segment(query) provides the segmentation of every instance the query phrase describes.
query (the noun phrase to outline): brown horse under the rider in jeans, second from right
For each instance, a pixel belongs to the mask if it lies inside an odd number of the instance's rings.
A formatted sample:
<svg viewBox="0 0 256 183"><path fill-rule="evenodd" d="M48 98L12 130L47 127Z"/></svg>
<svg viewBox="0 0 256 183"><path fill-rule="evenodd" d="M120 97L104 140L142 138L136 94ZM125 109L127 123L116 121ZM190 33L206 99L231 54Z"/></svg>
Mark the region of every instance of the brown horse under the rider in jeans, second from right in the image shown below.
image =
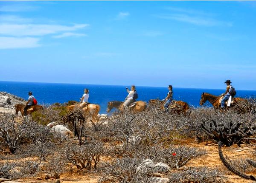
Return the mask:
<svg viewBox="0 0 256 183"><path fill-rule="evenodd" d="M148 104L150 106L154 107L160 107L161 109L164 109L164 100L159 99L150 99L148 101ZM175 101L173 100L172 103L169 105L169 109L171 109L172 112L180 114L183 113L183 115L187 114L187 111L189 110L189 104L184 101Z"/></svg>

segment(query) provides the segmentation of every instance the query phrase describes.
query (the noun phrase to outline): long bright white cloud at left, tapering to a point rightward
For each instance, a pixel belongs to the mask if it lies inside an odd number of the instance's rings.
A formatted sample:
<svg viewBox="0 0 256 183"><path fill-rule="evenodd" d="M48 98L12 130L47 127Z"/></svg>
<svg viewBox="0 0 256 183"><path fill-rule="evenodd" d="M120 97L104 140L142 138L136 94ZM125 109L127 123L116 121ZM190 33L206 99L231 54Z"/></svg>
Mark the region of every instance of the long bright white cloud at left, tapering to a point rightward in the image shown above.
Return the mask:
<svg viewBox="0 0 256 183"><path fill-rule="evenodd" d="M49 24L0 24L0 34L8 36L43 36L63 31L76 31L87 27L87 24L49 25Z"/></svg>

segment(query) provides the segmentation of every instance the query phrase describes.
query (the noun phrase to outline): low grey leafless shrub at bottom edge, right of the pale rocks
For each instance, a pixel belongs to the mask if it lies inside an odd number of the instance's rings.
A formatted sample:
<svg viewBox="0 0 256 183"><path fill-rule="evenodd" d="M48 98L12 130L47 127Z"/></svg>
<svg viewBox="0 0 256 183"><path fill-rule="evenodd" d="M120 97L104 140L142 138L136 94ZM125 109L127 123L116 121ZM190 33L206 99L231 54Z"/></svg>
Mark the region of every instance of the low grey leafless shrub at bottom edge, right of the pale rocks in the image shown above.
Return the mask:
<svg viewBox="0 0 256 183"><path fill-rule="evenodd" d="M172 173L170 183L224 183L226 178L218 169L207 167L189 168L184 172Z"/></svg>

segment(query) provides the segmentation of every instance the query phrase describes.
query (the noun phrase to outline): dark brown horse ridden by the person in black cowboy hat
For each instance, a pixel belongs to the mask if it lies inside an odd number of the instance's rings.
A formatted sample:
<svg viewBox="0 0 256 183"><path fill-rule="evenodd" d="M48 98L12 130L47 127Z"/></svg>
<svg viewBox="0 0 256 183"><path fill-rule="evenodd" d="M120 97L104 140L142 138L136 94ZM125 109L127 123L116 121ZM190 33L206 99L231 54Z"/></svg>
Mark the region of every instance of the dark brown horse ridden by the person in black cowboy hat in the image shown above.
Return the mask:
<svg viewBox="0 0 256 183"><path fill-rule="evenodd" d="M199 104L203 105L208 100L215 109L219 109L221 107L220 99L221 96L215 96L209 93L202 93ZM233 98L232 100L233 102L231 103L230 107L234 107L234 105L237 104L238 101L244 101L244 99L241 98ZM227 102L225 104L225 108L227 108Z"/></svg>

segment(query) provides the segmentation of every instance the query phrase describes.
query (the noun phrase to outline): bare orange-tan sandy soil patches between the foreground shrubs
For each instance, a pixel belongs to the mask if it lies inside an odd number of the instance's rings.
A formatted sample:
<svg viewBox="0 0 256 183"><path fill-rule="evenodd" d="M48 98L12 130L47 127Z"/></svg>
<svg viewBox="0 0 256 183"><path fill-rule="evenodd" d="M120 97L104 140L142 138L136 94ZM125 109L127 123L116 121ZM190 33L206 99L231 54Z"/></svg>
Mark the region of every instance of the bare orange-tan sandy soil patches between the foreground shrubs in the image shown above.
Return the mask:
<svg viewBox="0 0 256 183"><path fill-rule="evenodd" d="M193 141L193 139L190 139L188 141ZM205 143L197 144L195 141L191 143L185 143L189 146L195 146L199 148L203 148L207 150L207 155L200 156L198 158L194 158L190 160L184 168L186 167L198 167L198 166L207 166L209 168L218 168L219 170L223 171L225 175L227 176L227 183L253 183L252 180L245 180L240 178L237 175L234 175L232 172L227 170L227 168L222 164L219 155L218 155L218 145L205 145ZM185 145L184 144L184 145ZM233 156L239 155L239 158L246 157L244 155L244 151L241 151L244 149L244 146L238 147L236 145L232 147L224 147L222 148L224 156L227 155L228 157L232 158ZM103 159L107 160L107 159ZM96 174L90 174L90 173L84 173L85 175L79 175L76 171L73 171L73 174L66 173L61 176L61 183L97 183L97 179L100 177ZM250 175L256 176L256 168L253 169L253 172L250 172ZM41 176L43 178L44 176ZM55 183L56 180L38 180L40 177L32 177L32 178L26 178L26 179L20 179L17 181L23 182L23 183Z"/></svg>

